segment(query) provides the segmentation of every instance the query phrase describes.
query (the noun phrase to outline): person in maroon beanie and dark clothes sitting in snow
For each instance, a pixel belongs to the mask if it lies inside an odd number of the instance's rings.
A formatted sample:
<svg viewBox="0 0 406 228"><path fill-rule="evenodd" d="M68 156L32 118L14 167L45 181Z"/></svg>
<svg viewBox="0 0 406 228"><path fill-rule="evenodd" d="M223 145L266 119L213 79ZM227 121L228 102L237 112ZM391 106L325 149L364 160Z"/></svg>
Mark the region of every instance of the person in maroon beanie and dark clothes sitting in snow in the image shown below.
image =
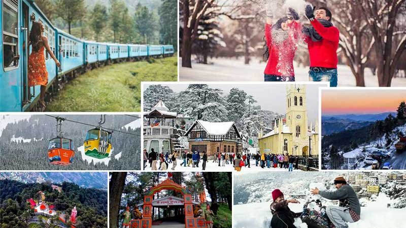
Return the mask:
<svg viewBox="0 0 406 228"><path fill-rule="evenodd" d="M272 228L296 228L293 224L295 218L299 217L301 213L295 213L288 207L289 203L300 203L296 199L285 200L283 193L279 189L272 191L272 199L274 202L270 204L270 212L272 213L272 220L270 226Z"/></svg>

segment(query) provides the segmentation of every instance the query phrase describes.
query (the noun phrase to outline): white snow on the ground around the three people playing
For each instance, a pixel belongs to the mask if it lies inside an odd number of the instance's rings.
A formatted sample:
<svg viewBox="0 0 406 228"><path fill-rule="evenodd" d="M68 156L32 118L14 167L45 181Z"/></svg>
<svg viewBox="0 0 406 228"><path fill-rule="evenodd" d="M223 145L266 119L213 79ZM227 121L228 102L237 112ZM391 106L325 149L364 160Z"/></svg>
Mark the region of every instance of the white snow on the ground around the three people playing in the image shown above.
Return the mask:
<svg viewBox="0 0 406 228"><path fill-rule="evenodd" d="M289 204L289 208L294 212L301 212L303 200L299 200L300 204ZM361 207L361 219L354 223L349 223L349 228L370 228L370 227L386 227L399 228L404 227L404 215L406 209L386 208L386 205L391 202L390 199L381 193L377 201L367 201L366 207ZM250 203L233 206L233 228L269 228L272 214L270 213L269 205L272 202ZM333 204L331 204L333 205ZM298 228L307 228L307 224L302 223L299 218L296 218L295 225Z"/></svg>

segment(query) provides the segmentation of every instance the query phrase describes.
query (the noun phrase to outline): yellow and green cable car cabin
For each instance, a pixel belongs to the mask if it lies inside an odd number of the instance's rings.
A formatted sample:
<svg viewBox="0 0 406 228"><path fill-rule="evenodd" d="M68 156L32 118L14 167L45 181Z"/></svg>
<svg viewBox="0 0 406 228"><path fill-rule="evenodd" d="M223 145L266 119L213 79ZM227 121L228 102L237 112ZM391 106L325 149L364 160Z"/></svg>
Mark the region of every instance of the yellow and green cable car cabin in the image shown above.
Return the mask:
<svg viewBox="0 0 406 228"><path fill-rule="evenodd" d="M109 157L112 148L111 135L111 132L99 128L89 130L84 142L85 155L96 159Z"/></svg>

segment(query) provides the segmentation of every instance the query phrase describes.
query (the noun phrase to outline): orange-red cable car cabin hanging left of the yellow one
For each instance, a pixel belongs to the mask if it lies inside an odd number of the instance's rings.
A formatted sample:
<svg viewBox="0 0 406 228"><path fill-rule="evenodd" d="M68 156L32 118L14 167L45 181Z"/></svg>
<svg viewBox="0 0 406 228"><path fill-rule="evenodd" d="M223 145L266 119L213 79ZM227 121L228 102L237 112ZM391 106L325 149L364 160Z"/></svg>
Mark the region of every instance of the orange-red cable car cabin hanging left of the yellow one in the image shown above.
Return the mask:
<svg viewBox="0 0 406 228"><path fill-rule="evenodd" d="M49 140L48 161L54 165L67 166L72 164L75 149L71 139L53 138Z"/></svg>

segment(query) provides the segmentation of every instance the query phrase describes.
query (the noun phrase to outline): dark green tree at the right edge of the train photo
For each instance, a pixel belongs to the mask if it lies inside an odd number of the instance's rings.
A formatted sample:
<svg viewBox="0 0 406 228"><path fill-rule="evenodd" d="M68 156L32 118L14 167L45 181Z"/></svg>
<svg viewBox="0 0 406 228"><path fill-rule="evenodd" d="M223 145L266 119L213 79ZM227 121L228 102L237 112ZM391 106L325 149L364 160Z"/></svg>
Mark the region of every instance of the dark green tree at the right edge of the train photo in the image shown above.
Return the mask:
<svg viewBox="0 0 406 228"><path fill-rule="evenodd" d="M159 7L159 42L174 45L177 50L178 39L178 3L173 0L162 0Z"/></svg>

